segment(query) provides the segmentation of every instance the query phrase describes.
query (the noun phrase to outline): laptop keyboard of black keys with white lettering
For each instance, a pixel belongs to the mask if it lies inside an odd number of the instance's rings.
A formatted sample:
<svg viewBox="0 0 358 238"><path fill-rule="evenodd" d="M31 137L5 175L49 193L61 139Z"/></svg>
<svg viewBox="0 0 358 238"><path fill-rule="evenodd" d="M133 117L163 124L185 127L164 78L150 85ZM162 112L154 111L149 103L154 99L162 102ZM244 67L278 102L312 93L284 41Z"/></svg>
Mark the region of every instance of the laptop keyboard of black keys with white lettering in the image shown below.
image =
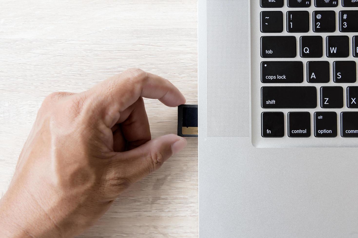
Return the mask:
<svg viewBox="0 0 358 238"><path fill-rule="evenodd" d="M284 4L288 11L280 10ZM339 5L347 10L335 11ZM261 107L269 109L261 113L261 136L358 137L352 60L358 57L358 0L260 0L260 6Z"/></svg>

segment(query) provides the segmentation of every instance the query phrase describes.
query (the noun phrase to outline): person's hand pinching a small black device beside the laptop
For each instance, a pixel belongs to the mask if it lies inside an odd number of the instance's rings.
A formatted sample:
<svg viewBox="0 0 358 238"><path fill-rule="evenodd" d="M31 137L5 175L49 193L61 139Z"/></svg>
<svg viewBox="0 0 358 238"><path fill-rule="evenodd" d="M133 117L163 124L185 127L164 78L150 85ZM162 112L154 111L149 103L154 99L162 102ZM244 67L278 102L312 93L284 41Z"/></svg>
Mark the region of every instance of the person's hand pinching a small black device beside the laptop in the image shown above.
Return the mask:
<svg viewBox="0 0 358 238"><path fill-rule="evenodd" d="M176 135L151 140L142 97L185 103L168 80L139 69L82 93L46 97L0 200L1 233L76 236L124 189L182 150L186 141Z"/></svg>

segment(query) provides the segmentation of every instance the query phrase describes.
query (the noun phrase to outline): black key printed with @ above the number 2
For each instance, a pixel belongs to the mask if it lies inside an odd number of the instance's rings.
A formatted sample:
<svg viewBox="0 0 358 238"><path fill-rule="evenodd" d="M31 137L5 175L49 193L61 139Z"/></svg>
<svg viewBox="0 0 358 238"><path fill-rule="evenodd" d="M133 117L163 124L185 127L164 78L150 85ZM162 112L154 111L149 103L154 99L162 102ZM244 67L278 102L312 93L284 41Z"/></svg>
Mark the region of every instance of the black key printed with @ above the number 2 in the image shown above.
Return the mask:
<svg viewBox="0 0 358 238"><path fill-rule="evenodd" d="M335 32L335 11L314 11L313 31Z"/></svg>

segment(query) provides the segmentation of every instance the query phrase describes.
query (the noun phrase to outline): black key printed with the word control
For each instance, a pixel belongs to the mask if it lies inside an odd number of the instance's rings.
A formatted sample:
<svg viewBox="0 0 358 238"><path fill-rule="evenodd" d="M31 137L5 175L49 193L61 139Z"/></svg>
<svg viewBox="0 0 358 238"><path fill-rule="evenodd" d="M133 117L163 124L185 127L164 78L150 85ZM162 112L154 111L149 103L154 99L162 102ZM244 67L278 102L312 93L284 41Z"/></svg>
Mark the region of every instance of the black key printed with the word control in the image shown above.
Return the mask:
<svg viewBox="0 0 358 238"><path fill-rule="evenodd" d="M311 114L309 112L289 112L287 117L289 137L311 136Z"/></svg>

